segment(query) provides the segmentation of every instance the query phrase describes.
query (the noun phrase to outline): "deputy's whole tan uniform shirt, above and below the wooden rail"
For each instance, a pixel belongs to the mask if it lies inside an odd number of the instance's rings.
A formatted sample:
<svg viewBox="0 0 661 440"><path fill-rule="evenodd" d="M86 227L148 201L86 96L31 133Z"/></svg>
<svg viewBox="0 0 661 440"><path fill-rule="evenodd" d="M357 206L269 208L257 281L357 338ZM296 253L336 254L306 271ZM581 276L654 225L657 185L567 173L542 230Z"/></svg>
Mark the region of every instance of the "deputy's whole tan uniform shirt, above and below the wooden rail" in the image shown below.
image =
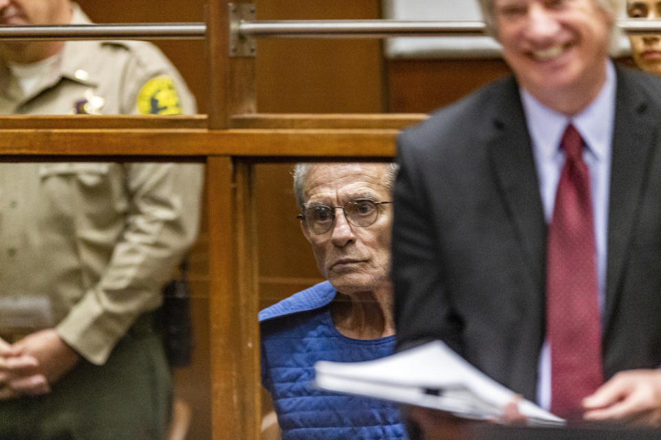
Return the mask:
<svg viewBox="0 0 661 440"><path fill-rule="evenodd" d="M75 5L73 23L89 23ZM70 41L58 57L28 96L0 65L0 114L195 112L149 43ZM103 364L160 304L196 238L201 188L199 164L0 164L0 333L56 327Z"/></svg>

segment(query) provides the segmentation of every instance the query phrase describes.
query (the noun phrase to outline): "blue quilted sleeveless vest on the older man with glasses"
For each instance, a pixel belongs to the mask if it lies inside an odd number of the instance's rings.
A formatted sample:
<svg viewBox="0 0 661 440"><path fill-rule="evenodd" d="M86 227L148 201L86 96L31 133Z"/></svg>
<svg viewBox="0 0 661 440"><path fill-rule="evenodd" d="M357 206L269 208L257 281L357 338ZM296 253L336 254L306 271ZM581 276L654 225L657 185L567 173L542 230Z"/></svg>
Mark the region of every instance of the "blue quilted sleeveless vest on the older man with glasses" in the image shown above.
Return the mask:
<svg viewBox="0 0 661 440"><path fill-rule="evenodd" d="M394 336L356 340L339 333L328 309L336 293L326 281L260 311L262 384L282 440L407 439L395 404L311 386L318 360L359 362L395 349Z"/></svg>

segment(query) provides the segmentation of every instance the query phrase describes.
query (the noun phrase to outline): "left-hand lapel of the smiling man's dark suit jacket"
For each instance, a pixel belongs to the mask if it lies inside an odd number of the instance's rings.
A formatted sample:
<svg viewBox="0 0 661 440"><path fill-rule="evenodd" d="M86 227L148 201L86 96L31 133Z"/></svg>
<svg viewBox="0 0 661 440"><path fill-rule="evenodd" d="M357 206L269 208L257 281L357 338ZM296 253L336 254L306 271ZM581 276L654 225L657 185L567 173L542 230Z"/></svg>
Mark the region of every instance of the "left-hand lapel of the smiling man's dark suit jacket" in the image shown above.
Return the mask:
<svg viewBox="0 0 661 440"><path fill-rule="evenodd" d="M532 293L541 300L546 225L530 137L514 79L502 88L502 96L492 102L504 103L487 113L490 114L487 122L492 124L487 144L496 185L518 235L533 285L538 287Z"/></svg>

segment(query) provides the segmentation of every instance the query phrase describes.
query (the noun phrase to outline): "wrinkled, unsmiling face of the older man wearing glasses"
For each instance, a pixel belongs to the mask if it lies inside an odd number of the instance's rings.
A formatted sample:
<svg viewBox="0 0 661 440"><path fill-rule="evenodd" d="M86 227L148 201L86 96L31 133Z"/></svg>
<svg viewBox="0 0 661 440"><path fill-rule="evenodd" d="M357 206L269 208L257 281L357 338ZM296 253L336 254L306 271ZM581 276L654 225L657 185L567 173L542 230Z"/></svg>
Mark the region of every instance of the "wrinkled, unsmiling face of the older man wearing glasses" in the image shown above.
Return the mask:
<svg viewBox="0 0 661 440"><path fill-rule="evenodd" d="M390 201L386 183L387 164L313 164L303 187L306 206L344 206L350 199ZM310 234L319 272L343 294L370 292L390 283L390 205L379 206L379 217L372 225L359 228L346 221L342 210L335 210L335 226L325 234Z"/></svg>

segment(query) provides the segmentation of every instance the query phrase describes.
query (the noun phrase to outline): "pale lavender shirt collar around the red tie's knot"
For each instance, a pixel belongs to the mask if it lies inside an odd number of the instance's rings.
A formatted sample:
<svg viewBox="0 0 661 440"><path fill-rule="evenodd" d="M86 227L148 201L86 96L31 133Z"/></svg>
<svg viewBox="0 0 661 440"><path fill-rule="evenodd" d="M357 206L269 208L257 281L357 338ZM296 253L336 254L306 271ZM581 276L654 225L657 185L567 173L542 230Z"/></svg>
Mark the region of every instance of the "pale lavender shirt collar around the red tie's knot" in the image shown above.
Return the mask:
<svg viewBox="0 0 661 440"><path fill-rule="evenodd" d="M597 97L571 118L549 109L525 89L520 91L533 148L543 157L551 158L558 153L560 138L571 122L590 153L596 159L605 158L611 148L615 116L616 72L610 60L607 61L606 81Z"/></svg>

